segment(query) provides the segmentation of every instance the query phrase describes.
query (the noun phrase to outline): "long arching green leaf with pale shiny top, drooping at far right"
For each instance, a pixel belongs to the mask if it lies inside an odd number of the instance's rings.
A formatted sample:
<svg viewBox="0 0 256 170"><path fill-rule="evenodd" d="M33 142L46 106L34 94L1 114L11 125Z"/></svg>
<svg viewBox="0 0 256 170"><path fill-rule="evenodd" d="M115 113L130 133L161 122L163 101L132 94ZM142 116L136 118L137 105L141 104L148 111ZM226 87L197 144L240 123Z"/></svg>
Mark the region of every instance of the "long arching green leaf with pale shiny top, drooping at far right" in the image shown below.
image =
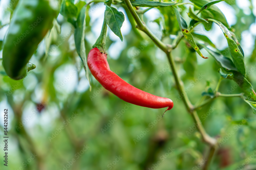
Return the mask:
<svg viewBox="0 0 256 170"><path fill-rule="evenodd" d="M246 74L246 70L245 70L245 64L244 64L244 55L243 55L243 51L241 51L241 46L235 36L235 34L231 31L229 31L227 29L227 27L225 27L221 22L215 20L215 19L208 19L210 21L213 21L215 23L217 23L223 34L225 35L227 41L228 41L228 46L229 46L229 51L231 54L231 57L233 59L233 62L237 68L237 70L242 73L243 76L245 76Z"/></svg>

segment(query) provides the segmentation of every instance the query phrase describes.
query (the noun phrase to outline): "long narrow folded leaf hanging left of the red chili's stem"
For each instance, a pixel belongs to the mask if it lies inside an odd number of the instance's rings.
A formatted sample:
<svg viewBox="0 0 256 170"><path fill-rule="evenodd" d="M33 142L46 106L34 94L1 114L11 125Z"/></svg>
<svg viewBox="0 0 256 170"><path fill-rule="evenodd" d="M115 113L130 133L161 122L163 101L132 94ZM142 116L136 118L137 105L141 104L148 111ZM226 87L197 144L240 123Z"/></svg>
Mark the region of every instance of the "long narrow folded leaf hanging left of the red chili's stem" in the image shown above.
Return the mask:
<svg viewBox="0 0 256 170"><path fill-rule="evenodd" d="M86 78L89 82L90 85L90 90L91 90L91 82L90 82L90 77L89 77L89 68L87 65L87 58L86 58L86 52L85 52L85 43L84 43L84 32L86 28L86 6L84 6L80 14L77 18L76 22L76 29L74 31L74 39L75 39L75 45L76 45L76 50L79 55L79 57L82 60L84 70L86 72Z"/></svg>

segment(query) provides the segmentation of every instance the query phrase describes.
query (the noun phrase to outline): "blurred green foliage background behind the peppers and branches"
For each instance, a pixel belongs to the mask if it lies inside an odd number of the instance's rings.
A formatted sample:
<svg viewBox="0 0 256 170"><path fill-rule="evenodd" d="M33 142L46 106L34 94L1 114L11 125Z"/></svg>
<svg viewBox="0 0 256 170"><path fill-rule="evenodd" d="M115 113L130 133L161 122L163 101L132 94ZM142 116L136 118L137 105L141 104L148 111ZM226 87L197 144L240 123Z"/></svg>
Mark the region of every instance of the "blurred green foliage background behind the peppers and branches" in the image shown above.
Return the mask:
<svg viewBox="0 0 256 170"><path fill-rule="evenodd" d="M242 32L255 22L253 6L250 6L251 13L245 15L234 1L225 2L235 10L237 22L231 29L240 41ZM69 15L57 20L30 60L36 64L36 69L19 81L10 79L3 72L0 75L1 141L4 109L8 109L9 136L8 167L3 166L3 142L0 142L1 169L201 169L209 147L202 142L182 96L175 88L165 54L146 34L135 28L136 24L124 5L116 4L114 7L120 7L119 11L126 11L125 17L130 20L132 29L123 35L125 48L117 59L111 56L114 51L107 50L111 70L139 89L172 99L174 107L162 118L164 108L151 109L126 103L103 89L89 73L90 91L81 59L74 48L72 25L86 2L69 3L72 8L60 10L64 16L68 10ZM100 5L103 3L92 3L86 8L86 55L98 36L92 31L90 16ZM186 14L189 9L184 6L179 9L189 25ZM12 14L12 9L8 10L6 13ZM163 18L152 22L163 29L154 34L171 44L170 34L180 35L178 22L171 7L159 8L159 11ZM145 16L143 19L147 24L151 22ZM109 49L114 41L113 38L107 40L106 49ZM244 58L247 79L254 89L255 51ZM214 58L205 50L201 52L209 59L201 58L185 38L172 52L184 82L184 93L193 104L209 98L201 94L209 87L215 89L220 78ZM64 83L68 79L72 82ZM228 79L222 80L219 91L223 94L242 93L237 84ZM239 169L243 164L248 165L243 166L244 169L255 169L256 119L248 103L239 97L219 97L198 110L198 114L206 132L219 139L210 169ZM85 146L88 149L82 153ZM79 158L77 152L82 153ZM30 157L31 154L37 156ZM30 158L33 158L31 162ZM69 167L72 159L75 161Z"/></svg>

